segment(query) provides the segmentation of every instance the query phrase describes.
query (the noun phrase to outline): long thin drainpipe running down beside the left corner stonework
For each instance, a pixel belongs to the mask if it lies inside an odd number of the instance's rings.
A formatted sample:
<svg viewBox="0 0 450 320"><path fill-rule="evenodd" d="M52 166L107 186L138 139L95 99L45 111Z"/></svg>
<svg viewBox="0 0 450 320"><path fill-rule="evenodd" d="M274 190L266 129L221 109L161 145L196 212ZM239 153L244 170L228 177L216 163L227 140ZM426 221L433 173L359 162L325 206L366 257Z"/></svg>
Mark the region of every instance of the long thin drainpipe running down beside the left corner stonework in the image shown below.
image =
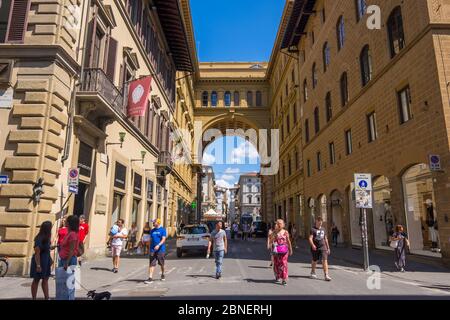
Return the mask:
<svg viewBox="0 0 450 320"><path fill-rule="evenodd" d="M77 94L77 89L80 87L81 83L83 82L83 76L84 76L84 64L85 64L85 60L86 60L86 43L87 43L87 38L88 38L88 24L89 24L89 16L91 13L91 7L89 5L89 0L85 0L84 4L85 6L87 6L87 9L85 7L83 7L83 15L86 13L86 17L84 19L84 26L85 26L85 30L84 30L84 42L83 42L83 47L78 48L77 52L76 52L76 59L78 61L79 56L80 56L80 50L82 50L82 58L81 58L81 71L80 71L80 76L78 77L78 83L74 83L72 84L72 98L70 99L70 105L69 105L69 121L67 124L67 130L66 130L66 139L65 139L65 143L64 143L64 153L63 156L61 158L61 162L64 165L64 162L69 158L69 154L70 154L70 145L72 143L72 132L73 132L73 116L75 113L75 98L76 98L76 94ZM81 21L83 21L83 17L81 18ZM83 26L81 26L83 27ZM80 35L78 37L78 44L80 45L80 40L81 40L81 32ZM77 76L75 75L73 79L75 79Z"/></svg>

